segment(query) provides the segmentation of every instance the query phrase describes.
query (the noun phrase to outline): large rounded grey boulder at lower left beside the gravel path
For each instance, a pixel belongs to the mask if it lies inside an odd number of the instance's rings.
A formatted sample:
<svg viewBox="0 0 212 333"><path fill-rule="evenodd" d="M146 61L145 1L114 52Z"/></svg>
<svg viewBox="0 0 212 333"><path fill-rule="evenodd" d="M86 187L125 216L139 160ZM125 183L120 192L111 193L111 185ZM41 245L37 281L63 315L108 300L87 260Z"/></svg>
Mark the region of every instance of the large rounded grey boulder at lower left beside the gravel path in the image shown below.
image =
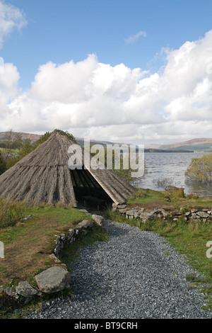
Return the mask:
<svg viewBox="0 0 212 333"><path fill-rule="evenodd" d="M35 276L37 286L42 293L57 293L69 287L71 275L61 266L53 266Z"/></svg>

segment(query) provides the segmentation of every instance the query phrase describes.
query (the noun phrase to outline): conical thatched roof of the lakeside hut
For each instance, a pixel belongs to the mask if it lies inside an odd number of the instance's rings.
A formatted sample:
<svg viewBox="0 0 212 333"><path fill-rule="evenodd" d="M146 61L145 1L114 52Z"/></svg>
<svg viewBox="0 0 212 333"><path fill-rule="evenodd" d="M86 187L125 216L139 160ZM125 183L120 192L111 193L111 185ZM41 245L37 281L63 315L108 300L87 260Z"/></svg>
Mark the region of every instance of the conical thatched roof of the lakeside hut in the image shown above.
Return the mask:
<svg viewBox="0 0 212 333"><path fill-rule="evenodd" d="M135 188L112 171L70 170L68 149L75 142L61 130L0 176L0 197L26 203L61 201L77 207L75 188L99 186L114 203L124 203ZM79 185L81 182L81 185Z"/></svg>

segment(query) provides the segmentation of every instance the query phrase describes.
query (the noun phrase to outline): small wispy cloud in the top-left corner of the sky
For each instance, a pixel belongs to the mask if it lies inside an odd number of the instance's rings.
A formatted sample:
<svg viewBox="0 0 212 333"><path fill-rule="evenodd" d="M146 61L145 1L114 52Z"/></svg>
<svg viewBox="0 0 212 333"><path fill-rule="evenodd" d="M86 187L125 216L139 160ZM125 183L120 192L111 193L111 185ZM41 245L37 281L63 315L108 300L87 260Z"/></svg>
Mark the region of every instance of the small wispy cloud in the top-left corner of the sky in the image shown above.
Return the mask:
<svg viewBox="0 0 212 333"><path fill-rule="evenodd" d="M3 47L4 39L13 30L20 30L27 25L25 13L12 4L0 1L0 48Z"/></svg>

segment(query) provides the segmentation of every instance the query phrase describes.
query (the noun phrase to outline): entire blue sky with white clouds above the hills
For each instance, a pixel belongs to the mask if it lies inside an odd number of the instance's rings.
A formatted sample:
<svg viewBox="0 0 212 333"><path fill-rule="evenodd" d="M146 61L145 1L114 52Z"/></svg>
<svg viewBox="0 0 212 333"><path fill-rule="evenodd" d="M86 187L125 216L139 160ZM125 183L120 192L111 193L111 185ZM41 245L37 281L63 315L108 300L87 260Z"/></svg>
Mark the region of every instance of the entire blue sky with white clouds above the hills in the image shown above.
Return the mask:
<svg viewBox="0 0 212 333"><path fill-rule="evenodd" d="M0 131L212 137L211 0L0 0Z"/></svg>

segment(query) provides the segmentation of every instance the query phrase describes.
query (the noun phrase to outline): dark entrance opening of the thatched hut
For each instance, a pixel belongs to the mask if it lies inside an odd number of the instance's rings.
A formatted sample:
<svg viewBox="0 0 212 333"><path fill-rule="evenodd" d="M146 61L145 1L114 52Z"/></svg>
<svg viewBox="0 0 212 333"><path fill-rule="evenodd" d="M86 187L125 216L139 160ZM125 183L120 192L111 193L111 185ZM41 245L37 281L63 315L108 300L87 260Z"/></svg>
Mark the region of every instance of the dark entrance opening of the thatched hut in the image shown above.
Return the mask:
<svg viewBox="0 0 212 333"><path fill-rule="evenodd" d="M110 196L103 190L87 169L70 170L73 191L79 205L105 210L112 205Z"/></svg>

